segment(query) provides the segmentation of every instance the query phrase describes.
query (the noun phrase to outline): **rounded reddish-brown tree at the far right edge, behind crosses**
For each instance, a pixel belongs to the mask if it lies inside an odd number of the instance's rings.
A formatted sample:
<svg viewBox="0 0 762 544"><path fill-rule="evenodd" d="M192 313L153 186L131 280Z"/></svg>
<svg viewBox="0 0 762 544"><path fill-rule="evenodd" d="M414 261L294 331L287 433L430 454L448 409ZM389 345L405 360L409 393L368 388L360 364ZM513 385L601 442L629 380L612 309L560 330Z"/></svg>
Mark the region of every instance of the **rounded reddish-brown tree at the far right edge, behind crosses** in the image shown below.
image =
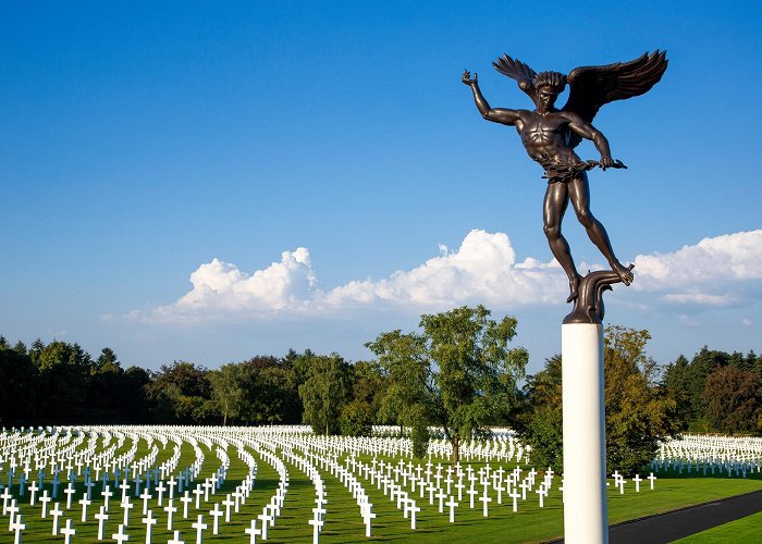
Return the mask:
<svg viewBox="0 0 762 544"><path fill-rule="evenodd" d="M705 417L715 431L749 433L760 428L762 394L760 380L752 371L734 364L715 369L706 376L702 400Z"/></svg>

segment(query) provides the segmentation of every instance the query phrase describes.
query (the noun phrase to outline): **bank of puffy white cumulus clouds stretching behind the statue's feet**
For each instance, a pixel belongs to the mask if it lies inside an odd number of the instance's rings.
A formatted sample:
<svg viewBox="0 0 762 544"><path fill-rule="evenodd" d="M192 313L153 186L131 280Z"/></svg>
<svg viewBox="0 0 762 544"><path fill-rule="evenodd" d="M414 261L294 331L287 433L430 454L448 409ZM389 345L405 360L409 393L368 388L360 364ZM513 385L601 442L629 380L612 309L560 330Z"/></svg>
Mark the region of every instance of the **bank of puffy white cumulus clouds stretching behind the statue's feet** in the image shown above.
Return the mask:
<svg viewBox="0 0 762 544"><path fill-rule="evenodd" d="M636 282L669 305L721 307L762 279L762 231L705 238L672 254L638 256ZM246 273L214 258L190 274L192 289L175 302L133 312L140 320L197 322L346 314L377 308L438 311L464 304L511 310L536 304L561 305L565 275L555 261L517 261L504 233L475 230L457 249L440 244L438 255L410 270L380 280L351 281L324 288L309 250L283 251L281 260ZM739 290L740 289L740 290ZM683 310L684 312L685 310ZM681 313L683 313L681 312Z"/></svg>

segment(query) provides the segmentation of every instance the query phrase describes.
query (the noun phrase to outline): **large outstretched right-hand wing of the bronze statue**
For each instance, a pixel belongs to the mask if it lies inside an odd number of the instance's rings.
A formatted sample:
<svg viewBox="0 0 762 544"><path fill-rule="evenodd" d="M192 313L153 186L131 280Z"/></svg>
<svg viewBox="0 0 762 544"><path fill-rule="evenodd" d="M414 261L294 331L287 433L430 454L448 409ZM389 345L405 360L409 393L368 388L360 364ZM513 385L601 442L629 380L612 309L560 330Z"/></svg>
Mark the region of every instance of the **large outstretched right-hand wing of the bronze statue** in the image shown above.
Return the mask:
<svg viewBox="0 0 762 544"><path fill-rule="evenodd" d="M640 96L653 87L666 70L665 57L666 51L656 49L629 62L574 69L566 78L569 99L564 111L575 112L591 123L603 104ZM580 140L572 134L570 147L576 147Z"/></svg>

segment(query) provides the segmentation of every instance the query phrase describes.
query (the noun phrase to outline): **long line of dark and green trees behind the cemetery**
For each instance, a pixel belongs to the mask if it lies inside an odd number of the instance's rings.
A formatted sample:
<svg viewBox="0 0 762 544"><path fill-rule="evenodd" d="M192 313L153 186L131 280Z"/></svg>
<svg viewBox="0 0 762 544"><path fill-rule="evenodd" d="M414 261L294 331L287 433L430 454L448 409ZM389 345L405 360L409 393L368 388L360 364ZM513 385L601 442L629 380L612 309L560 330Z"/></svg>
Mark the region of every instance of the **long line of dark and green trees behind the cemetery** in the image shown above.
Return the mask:
<svg viewBox="0 0 762 544"><path fill-rule="evenodd" d="M210 370L173 361L124 369L113 350L97 358L77 344L0 336L0 425L95 423L294 424L316 433L366 435L373 424L407 429L417 455L429 429L458 447L489 425L519 430L537 466L562 467L561 356L534 375L512 345L515 318L482 306L421 317L419 330L381 333L373 359L290 350ZM648 331L604 335L609 463L637 471L657 444L681 431L759 433L762 358L704 347L660 367Z"/></svg>

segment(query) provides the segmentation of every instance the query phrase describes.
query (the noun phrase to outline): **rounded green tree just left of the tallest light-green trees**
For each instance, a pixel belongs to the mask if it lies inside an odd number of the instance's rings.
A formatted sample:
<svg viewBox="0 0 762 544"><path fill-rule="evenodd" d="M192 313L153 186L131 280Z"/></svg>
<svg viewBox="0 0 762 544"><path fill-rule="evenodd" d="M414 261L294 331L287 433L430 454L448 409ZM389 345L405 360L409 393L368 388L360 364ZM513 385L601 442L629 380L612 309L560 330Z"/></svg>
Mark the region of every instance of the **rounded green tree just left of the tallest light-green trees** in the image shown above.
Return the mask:
<svg viewBox="0 0 762 544"><path fill-rule="evenodd" d="M340 417L352 395L352 367L337 354L302 356L307 380L299 385L304 421L319 434L339 434Z"/></svg>

